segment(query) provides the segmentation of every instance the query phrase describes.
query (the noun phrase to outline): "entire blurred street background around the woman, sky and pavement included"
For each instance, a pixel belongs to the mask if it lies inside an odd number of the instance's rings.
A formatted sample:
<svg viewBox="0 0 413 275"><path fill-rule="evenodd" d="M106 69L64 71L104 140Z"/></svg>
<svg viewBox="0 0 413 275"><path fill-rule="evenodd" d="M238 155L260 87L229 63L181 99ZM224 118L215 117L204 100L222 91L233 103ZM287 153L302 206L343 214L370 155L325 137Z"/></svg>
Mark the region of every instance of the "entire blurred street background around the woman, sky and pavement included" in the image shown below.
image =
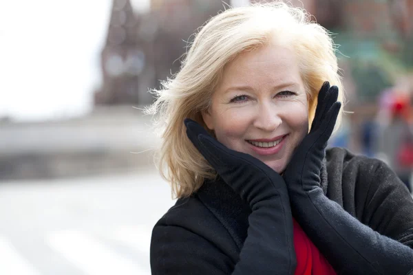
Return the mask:
<svg viewBox="0 0 413 275"><path fill-rule="evenodd" d="M0 0L0 274L150 274L174 203L142 108L187 41L248 0ZM330 146L410 186L413 0L292 1L339 44L347 104Z"/></svg>

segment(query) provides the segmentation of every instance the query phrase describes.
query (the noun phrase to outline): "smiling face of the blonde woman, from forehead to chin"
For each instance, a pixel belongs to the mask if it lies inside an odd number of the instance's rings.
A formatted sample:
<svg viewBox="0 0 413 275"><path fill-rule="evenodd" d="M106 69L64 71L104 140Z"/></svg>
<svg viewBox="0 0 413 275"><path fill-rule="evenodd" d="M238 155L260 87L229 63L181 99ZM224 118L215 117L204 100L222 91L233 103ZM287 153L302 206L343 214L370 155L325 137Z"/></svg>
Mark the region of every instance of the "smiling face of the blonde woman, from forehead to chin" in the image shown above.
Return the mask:
<svg viewBox="0 0 413 275"><path fill-rule="evenodd" d="M308 133L308 101L294 53L268 45L237 56L202 118L222 144L282 173Z"/></svg>

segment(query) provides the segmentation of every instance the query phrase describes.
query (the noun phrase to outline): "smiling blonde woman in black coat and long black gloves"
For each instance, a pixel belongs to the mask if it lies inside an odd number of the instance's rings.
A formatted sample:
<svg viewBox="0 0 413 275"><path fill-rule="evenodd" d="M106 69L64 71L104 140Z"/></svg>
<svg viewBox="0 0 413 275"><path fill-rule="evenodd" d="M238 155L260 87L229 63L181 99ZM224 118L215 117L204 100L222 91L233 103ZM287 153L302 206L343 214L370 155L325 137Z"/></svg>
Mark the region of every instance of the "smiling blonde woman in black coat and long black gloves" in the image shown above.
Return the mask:
<svg viewBox="0 0 413 275"><path fill-rule="evenodd" d="M148 111L178 201L153 228L152 274L413 274L407 188L377 159L325 150L341 81L302 10L218 14L164 84Z"/></svg>

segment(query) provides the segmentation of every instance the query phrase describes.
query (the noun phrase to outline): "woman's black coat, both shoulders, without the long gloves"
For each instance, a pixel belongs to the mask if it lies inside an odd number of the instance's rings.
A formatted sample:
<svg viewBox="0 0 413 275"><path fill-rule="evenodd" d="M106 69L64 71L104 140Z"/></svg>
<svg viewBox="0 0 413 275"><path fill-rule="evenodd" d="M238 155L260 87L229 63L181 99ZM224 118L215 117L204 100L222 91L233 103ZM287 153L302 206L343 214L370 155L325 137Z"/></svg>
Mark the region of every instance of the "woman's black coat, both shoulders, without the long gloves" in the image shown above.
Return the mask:
<svg viewBox="0 0 413 275"><path fill-rule="evenodd" d="M321 187L358 221L413 249L413 199L383 162L342 148L328 149ZM178 199L153 228L152 274L231 274L250 213L227 184L205 182L191 197ZM413 274L413 250L405 256L412 257L408 274ZM256 258L260 261L259 253Z"/></svg>

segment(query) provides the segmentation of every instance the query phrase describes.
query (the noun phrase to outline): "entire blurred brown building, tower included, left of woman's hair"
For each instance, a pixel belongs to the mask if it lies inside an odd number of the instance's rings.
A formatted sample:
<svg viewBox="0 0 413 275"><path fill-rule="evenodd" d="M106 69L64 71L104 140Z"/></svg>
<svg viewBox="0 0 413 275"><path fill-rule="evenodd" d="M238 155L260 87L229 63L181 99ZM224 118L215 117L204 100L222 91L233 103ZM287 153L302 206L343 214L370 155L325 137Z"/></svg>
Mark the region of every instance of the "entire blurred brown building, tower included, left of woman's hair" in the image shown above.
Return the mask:
<svg viewBox="0 0 413 275"><path fill-rule="evenodd" d="M222 7L221 0L152 0L151 12L138 14L129 0L113 0L95 104L150 103L149 89L178 71L186 41Z"/></svg>

